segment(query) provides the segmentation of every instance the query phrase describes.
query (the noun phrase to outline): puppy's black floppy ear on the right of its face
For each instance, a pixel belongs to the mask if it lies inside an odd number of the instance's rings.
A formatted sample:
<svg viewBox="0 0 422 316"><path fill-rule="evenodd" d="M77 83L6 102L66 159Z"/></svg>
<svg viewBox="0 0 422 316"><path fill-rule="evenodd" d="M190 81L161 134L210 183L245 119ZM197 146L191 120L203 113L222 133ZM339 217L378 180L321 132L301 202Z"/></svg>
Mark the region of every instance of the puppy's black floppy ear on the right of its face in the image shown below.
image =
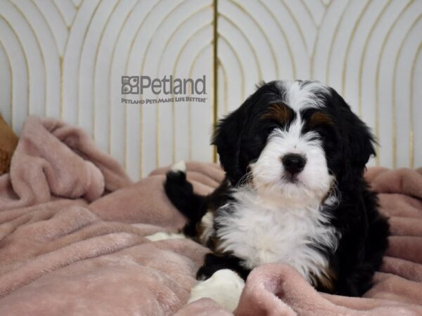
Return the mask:
<svg viewBox="0 0 422 316"><path fill-rule="evenodd" d="M350 106L333 91L336 102L340 105L343 131L343 154L345 162L345 178L354 180L364 174L366 163L375 155L373 134L366 124L352 112Z"/></svg>

